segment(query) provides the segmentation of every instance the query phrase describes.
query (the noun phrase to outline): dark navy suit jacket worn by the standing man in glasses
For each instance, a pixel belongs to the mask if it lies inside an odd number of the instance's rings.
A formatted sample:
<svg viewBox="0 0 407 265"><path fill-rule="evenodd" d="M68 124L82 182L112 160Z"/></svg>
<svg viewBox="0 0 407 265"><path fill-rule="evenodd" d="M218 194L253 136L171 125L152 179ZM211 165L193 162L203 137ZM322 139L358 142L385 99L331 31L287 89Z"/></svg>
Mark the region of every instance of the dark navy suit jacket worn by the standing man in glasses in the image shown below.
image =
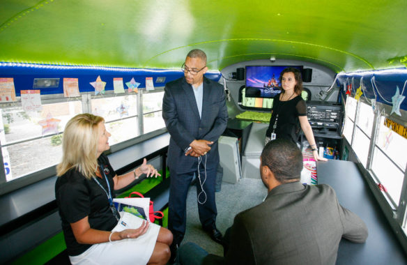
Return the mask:
<svg viewBox="0 0 407 265"><path fill-rule="evenodd" d="M185 156L185 149L194 139L213 141L206 154L206 166L219 162L217 139L226 128L228 114L224 89L221 84L203 77L202 114L199 118L192 85L185 77L168 82L162 100L162 118L171 135L168 148L168 166L178 174L191 172L197 158Z"/></svg>

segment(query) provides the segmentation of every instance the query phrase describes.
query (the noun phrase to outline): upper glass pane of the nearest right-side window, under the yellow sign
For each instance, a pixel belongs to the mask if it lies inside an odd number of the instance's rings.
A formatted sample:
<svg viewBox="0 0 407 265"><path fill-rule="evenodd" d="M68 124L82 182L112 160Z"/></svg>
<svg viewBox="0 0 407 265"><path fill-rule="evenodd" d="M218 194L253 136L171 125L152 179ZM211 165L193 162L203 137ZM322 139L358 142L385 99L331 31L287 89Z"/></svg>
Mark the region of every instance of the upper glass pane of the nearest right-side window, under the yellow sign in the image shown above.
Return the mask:
<svg viewBox="0 0 407 265"><path fill-rule="evenodd" d="M385 117L381 117L376 137L376 146L386 153L390 159L402 169L407 165L407 139L385 126Z"/></svg>

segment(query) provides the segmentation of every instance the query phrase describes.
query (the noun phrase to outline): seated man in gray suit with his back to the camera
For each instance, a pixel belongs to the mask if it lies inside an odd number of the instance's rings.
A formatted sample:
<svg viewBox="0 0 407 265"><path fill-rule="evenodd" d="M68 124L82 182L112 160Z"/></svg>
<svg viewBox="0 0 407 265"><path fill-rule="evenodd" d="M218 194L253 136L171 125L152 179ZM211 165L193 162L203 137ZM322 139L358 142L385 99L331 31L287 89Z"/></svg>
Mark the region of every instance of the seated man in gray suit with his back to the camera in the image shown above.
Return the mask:
<svg viewBox="0 0 407 265"><path fill-rule="evenodd" d="M225 257L187 243L180 249L181 264L335 264L341 238L366 241L366 225L339 204L329 185L300 183L302 154L295 144L269 142L260 160L268 195L236 215L225 235Z"/></svg>

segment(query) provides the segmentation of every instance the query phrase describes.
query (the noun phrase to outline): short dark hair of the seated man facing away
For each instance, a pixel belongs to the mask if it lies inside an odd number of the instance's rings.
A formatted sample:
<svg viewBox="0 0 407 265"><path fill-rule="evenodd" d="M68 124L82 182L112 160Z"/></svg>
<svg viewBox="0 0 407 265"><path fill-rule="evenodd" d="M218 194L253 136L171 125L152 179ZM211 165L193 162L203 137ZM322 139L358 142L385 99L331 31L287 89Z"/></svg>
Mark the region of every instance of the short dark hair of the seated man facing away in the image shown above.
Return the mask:
<svg viewBox="0 0 407 265"><path fill-rule="evenodd" d="M275 139L264 146L261 165L267 166L280 183L301 177L302 153L288 139Z"/></svg>

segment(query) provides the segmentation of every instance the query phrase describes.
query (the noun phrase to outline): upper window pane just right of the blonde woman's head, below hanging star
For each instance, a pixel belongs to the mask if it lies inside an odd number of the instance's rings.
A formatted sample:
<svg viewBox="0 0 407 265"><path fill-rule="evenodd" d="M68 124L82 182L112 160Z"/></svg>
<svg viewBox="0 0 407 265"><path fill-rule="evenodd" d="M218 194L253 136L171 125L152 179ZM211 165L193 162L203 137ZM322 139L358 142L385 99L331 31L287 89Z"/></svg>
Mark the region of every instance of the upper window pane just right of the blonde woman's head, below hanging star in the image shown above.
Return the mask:
<svg viewBox="0 0 407 265"><path fill-rule="evenodd" d="M137 95L94 98L92 114L102 116L105 122L136 116Z"/></svg>

